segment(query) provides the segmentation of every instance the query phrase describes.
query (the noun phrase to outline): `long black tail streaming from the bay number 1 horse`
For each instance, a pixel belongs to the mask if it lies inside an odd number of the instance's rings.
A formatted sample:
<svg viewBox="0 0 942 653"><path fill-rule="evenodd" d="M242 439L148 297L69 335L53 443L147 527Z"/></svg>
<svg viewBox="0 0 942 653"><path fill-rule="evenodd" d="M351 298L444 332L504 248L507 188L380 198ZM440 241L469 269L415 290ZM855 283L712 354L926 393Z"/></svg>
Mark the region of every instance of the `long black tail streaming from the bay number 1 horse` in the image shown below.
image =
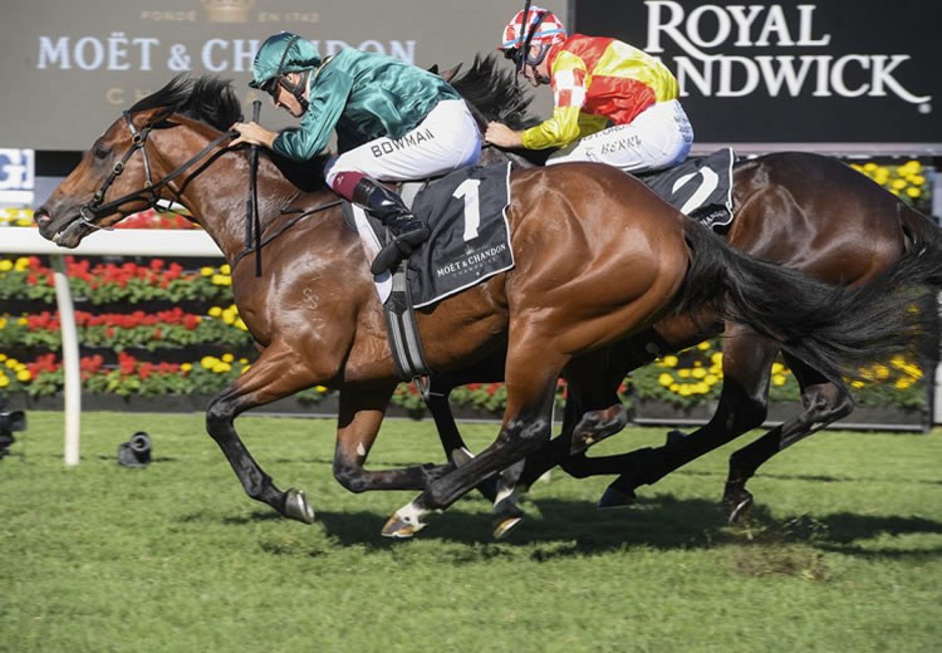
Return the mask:
<svg viewBox="0 0 942 653"><path fill-rule="evenodd" d="M865 286L832 286L797 269L739 253L695 220L684 220L692 251L678 310L707 308L745 324L836 384L861 367L921 353L935 311L929 288L892 269Z"/></svg>

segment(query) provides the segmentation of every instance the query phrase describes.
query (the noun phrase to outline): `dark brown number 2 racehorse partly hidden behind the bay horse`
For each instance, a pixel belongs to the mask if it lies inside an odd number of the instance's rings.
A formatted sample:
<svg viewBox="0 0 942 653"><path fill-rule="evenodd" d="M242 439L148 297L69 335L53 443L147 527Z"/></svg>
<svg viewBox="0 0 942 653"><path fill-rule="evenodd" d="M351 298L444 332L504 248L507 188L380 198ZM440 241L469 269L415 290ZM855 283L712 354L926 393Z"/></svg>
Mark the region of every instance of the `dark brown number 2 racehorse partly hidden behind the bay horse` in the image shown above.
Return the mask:
<svg viewBox="0 0 942 653"><path fill-rule="evenodd" d="M538 122L528 115L531 96L513 82L512 73L500 69L495 58L476 57L470 69L443 73L484 120L522 129ZM522 155L523 154L523 155ZM548 153L537 153L542 163ZM498 158L494 149L488 155ZM531 167L532 157L514 151L516 165ZM842 285L868 283L889 269L905 274L910 283L942 289L942 230L918 211L902 203L866 176L836 159L804 153L783 153L739 161L733 173L735 219L724 234L736 249L750 256L802 269L822 281ZM904 272L902 270L905 270ZM928 300L928 296L925 298ZM927 318L935 315L926 303ZM594 401L609 405L625 374L656 357L679 351L705 337L723 332L722 320L695 324L684 316L659 321L652 329L626 339L610 353L596 383ZM937 358L937 328L927 321L926 340L920 357L924 368L934 368ZM726 324L723 332L723 392L709 422L686 437L671 437L658 449L642 449L624 456L588 458L587 443L570 445L573 425L585 409L567 406L563 434L538 454L528 458L520 479L529 486L552 465L560 464L577 477L620 474L611 483L600 506L629 503L634 490L657 482L691 460L760 426L768 413L771 365L778 347L753 330ZM735 452L723 506L730 519L752 504L746 482L772 455L849 415L853 399L845 386L835 384L820 370L785 353L789 367L801 385L802 412L776 426L752 445ZM430 411L443 443L460 450L463 441L450 415L447 394L458 384L499 381L499 354L477 369L432 377ZM576 389L574 400L588 390ZM581 393L581 394L580 394ZM598 397L600 396L600 397ZM580 399L581 398L581 399ZM575 452L574 455L570 455ZM508 482L512 482L511 475ZM512 511L512 506L506 510Z"/></svg>

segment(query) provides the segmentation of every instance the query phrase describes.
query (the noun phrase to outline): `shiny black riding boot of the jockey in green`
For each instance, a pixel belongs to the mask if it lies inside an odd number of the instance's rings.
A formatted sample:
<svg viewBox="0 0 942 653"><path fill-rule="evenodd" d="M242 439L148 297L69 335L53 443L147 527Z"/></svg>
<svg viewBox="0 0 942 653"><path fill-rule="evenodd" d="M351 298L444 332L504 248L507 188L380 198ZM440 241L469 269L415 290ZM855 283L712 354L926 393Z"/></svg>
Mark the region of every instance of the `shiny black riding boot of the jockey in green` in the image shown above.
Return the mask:
<svg viewBox="0 0 942 653"><path fill-rule="evenodd" d="M429 227L416 218L396 193L369 177L361 179L353 188L353 201L363 206L389 228L393 238L385 244L369 267L373 274L382 274L395 268L399 261L411 254L416 245L429 238Z"/></svg>

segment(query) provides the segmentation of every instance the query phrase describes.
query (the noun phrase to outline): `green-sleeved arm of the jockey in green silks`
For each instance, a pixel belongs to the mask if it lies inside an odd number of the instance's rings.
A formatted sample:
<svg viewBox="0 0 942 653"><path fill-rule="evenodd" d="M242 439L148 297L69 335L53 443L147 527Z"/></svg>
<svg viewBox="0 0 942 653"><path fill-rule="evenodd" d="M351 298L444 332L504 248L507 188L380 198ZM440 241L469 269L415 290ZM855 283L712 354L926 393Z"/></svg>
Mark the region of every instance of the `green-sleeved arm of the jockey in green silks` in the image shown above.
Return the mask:
<svg viewBox="0 0 942 653"><path fill-rule="evenodd" d="M284 129L271 144L280 155L307 161L327 147L340 116L347 106L353 79L348 73L328 68L311 87L307 111L300 129Z"/></svg>

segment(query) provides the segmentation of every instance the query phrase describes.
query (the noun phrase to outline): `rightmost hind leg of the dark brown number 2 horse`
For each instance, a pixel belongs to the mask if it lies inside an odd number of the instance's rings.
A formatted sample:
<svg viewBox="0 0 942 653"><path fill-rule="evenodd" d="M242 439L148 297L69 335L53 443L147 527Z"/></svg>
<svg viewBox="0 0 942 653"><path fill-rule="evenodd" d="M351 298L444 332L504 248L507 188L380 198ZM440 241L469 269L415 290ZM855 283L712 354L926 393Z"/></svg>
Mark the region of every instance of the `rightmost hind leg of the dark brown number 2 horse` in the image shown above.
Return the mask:
<svg viewBox="0 0 942 653"><path fill-rule="evenodd" d="M730 522L736 521L752 506L753 496L746 490L746 482L755 476L761 465L782 449L853 411L853 399L846 390L832 384L801 361L788 356L787 360L788 367L802 386L802 412L730 456L729 477L723 491L723 509Z"/></svg>

